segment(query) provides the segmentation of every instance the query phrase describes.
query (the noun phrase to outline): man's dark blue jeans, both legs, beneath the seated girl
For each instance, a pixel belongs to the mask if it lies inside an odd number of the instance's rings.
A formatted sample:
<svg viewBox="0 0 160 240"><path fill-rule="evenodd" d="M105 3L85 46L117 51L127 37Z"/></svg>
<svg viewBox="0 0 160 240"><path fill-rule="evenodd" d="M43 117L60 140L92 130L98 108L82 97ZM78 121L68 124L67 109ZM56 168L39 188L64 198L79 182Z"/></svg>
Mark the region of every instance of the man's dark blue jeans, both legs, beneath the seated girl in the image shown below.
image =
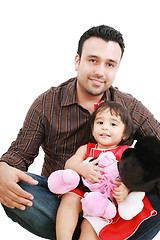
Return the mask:
<svg viewBox="0 0 160 240"><path fill-rule="evenodd" d="M28 173L29 174L29 173ZM25 211L10 209L5 206L7 215L22 227L40 237L56 240L55 221L56 213L60 203L57 195L51 193L47 187L47 178L29 174L39 181L37 186L31 186L23 181L19 185L34 196L33 206L26 207ZM155 194L147 195L157 215L144 221L131 240L151 240L160 230L160 199ZM80 222L79 224L80 225ZM74 239L78 240L80 227L78 226Z"/></svg>

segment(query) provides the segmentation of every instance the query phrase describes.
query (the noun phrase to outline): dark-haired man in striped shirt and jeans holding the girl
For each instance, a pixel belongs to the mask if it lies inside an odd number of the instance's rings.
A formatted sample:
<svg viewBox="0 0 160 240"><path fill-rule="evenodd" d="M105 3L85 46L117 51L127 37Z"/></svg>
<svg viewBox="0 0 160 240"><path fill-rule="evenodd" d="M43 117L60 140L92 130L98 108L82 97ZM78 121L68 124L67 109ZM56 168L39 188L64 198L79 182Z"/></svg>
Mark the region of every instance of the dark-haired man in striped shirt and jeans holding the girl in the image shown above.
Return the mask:
<svg viewBox="0 0 160 240"><path fill-rule="evenodd" d="M56 239L60 200L48 191L47 177L63 169L78 147L91 140L88 123L94 103L112 100L127 108L135 140L144 135L160 139L160 124L153 115L131 95L112 87L123 52L122 35L115 29L102 25L85 32L75 57L77 78L51 88L35 100L16 141L1 157L0 202L13 221L38 236ZM24 173L40 146L45 153L42 177ZM160 210L156 195L148 194L148 198ZM151 217L132 238L152 239L160 229L159 220L159 214Z"/></svg>

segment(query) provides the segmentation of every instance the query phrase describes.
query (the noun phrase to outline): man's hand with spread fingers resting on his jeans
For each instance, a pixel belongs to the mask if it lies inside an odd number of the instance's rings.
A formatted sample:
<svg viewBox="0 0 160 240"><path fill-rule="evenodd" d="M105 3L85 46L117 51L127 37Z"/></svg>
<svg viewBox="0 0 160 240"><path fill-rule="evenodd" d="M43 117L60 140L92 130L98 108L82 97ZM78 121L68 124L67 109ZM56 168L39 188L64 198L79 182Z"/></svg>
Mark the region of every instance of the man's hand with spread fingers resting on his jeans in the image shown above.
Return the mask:
<svg viewBox="0 0 160 240"><path fill-rule="evenodd" d="M38 184L24 172L0 162L0 202L6 207L25 210L25 206L32 206L34 197L17 184L20 180L31 185Z"/></svg>

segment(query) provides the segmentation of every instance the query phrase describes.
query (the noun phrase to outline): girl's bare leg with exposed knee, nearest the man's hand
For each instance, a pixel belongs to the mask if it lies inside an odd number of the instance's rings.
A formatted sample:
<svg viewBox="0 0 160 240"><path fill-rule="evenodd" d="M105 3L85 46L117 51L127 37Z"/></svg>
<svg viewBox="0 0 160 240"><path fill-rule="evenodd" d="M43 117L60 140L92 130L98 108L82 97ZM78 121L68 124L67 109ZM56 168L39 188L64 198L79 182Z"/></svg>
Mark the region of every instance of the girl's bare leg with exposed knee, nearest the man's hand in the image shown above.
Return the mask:
<svg viewBox="0 0 160 240"><path fill-rule="evenodd" d="M57 240L72 239L81 211L80 196L70 192L62 196L56 219Z"/></svg>

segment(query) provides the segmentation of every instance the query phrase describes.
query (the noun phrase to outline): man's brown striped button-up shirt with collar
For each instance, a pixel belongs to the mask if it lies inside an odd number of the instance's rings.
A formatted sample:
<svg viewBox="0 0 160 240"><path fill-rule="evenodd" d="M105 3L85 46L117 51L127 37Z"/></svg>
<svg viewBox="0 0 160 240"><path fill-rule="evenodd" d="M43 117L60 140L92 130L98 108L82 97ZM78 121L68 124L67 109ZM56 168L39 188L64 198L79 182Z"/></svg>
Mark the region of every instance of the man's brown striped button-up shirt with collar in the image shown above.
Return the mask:
<svg viewBox="0 0 160 240"><path fill-rule="evenodd" d="M91 140L90 113L76 100L76 78L53 87L40 95L29 109L23 128L1 161L26 171L38 155L45 153L42 175L63 169L66 160L78 147ZM156 135L160 139L160 124L137 99L110 87L103 100L115 101L128 109L134 125L134 139Z"/></svg>

